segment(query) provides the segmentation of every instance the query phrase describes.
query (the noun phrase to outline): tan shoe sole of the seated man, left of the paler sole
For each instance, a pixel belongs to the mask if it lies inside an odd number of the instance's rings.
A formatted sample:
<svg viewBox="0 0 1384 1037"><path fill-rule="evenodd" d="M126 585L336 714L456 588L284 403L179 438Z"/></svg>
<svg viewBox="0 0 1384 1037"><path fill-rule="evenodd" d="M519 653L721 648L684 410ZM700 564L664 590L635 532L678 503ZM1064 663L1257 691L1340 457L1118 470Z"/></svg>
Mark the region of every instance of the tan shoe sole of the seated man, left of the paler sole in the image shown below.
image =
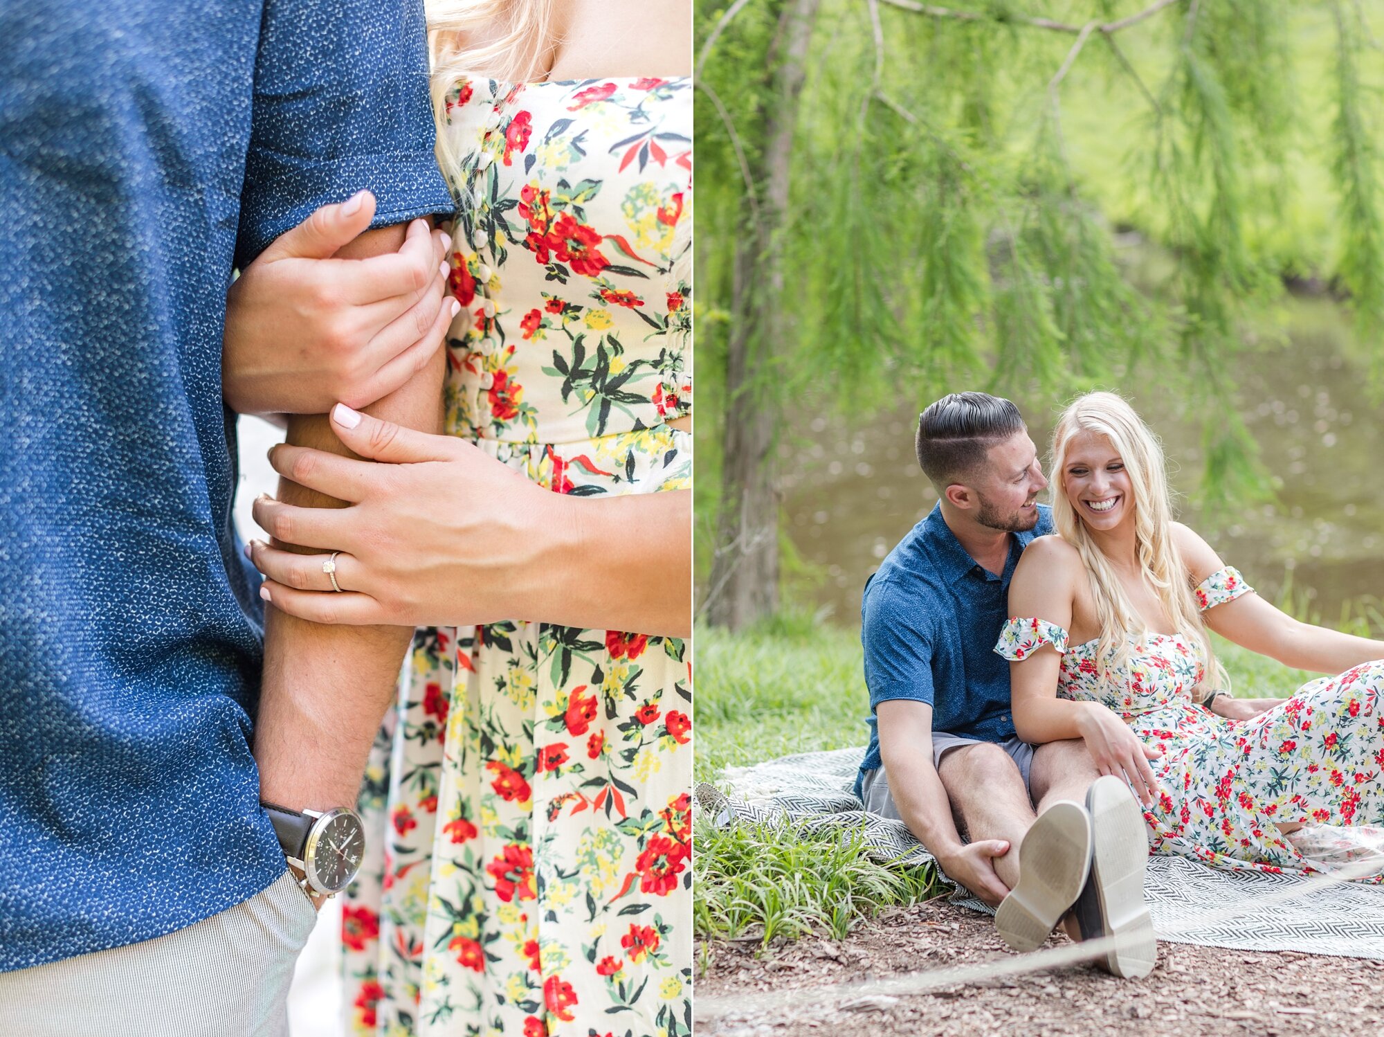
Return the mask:
<svg viewBox="0 0 1384 1037"><path fill-rule="evenodd" d="M1080 803L1053 803L1034 821L1019 847L1019 883L995 911L995 929L1010 948L1041 947L1081 896L1091 840L1091 815Z"/></svg>

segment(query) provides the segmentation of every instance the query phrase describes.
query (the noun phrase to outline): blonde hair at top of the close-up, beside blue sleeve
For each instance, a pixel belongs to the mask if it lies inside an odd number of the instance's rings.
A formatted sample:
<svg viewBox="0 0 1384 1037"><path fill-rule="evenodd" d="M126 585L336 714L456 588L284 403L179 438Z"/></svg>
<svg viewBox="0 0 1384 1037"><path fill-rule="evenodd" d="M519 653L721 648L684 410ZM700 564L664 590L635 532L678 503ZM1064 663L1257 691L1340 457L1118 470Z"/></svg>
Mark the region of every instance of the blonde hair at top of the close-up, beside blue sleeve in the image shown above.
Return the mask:
<svg viewBox="0 0 1384 1037"><path fill-rule="evenodd" d="M556 0L424 0L436 152L448 179L461 156L453 154L447 136L447 93L464 78L543 79L561 42L555 8Z"/></svg>

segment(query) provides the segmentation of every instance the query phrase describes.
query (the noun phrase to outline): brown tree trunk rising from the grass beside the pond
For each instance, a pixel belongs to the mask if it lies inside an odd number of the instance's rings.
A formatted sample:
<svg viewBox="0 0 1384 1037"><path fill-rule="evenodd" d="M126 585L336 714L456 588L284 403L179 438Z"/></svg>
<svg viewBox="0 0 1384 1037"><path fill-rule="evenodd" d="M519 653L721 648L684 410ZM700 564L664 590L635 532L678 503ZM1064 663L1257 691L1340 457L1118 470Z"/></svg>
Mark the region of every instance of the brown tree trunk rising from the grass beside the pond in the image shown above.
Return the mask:
<svg viewBox="0 0 1384 1037"><path fill-rule="evenodd" d="M782 307L779 228L787 212L797 101L818 3L789 0L779 15L768 54L774 79L764 114L765 147L754 170L760 220L746 219L735 249L721 516L703 602L707 620L731 630L771 615L779 601L779 490L772 456L779 404L770 378L774 350L792 334ZM779 50L782 60L774 53Z"/></svg>

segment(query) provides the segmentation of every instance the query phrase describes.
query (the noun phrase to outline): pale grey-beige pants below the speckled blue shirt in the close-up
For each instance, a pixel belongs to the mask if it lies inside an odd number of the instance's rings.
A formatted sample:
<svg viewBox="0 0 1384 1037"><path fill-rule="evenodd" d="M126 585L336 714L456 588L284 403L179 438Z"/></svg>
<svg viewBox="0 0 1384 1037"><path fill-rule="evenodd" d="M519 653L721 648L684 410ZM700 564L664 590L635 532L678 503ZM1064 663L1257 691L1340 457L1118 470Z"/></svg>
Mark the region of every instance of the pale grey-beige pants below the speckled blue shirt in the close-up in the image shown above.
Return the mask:
<svg viewBox="0 0 1384 1037"><path fill-rule="evenodd" d="M0 1034L286 1037L293 964L316 922L285 871L187 929L0 973Z"/></svg>

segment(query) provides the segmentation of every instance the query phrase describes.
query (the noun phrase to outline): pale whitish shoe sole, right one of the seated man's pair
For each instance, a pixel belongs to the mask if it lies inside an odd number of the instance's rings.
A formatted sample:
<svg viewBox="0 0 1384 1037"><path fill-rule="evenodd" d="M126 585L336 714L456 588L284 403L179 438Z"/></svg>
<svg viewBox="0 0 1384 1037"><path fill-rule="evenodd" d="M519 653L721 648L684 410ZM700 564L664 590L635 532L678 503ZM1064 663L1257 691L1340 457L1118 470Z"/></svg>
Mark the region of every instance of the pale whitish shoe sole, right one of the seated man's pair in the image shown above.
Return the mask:
<svg viewBox="0 0 1384 1037"><path fill-rule="evenodd" d="M1088 940L1113 936L1114 947L1098 959L1116 976L1138 979L1153 972L1158 939L1143 900L1143 875L1149 864L1149 836L1143 811L1120 778L1096 778L1086 792L1091 814L1091 885L1099 917L1078 915ZM1088 926L1099 932L1088 932Z"/></svg>

